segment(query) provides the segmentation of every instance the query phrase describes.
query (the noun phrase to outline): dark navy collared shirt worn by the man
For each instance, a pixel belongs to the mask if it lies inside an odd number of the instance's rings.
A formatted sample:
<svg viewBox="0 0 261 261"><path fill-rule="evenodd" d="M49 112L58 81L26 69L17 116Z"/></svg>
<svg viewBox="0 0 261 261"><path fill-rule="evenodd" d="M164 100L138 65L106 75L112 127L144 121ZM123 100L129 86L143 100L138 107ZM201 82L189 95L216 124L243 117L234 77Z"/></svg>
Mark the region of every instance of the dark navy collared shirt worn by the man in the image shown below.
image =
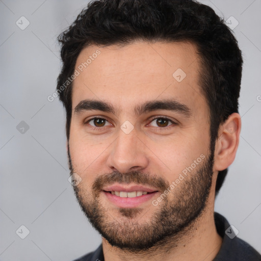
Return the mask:
<svg viewBox="0 0 261 261"><path fill-rule="evenodd" d="M238 238L236 231L229 228L227 220L216 212L215 224L223 242L213 261L261 261L261 255L248 243ZM102 244L95 251L74 261L104 261Z"/></svg>

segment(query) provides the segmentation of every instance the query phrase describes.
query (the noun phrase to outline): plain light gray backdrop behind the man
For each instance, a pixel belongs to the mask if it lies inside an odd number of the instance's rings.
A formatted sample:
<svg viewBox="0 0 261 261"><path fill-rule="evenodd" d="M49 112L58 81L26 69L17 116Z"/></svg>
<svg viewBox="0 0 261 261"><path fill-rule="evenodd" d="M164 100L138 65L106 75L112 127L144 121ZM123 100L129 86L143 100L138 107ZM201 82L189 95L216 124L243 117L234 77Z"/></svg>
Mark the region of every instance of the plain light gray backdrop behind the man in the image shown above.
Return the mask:
<svg viewBox="0 0 261 261"><path fill-rule="evenodd" d="M201 2L225 19L233 16L239 21L233 31L244 56L240 145L216 200L216 211L239 230L239 237L261 252L261 1ZM58 98L47 100L55 91L61 66L56 38L87 3L0 0L3 261L69 261L101 242L68 181L63 107ZM24 30L16 25L21 16L30 21ZM29 125L24 133L16 128L21 121ZM30 230L23 240L16 234L21 225Z"/></svg>

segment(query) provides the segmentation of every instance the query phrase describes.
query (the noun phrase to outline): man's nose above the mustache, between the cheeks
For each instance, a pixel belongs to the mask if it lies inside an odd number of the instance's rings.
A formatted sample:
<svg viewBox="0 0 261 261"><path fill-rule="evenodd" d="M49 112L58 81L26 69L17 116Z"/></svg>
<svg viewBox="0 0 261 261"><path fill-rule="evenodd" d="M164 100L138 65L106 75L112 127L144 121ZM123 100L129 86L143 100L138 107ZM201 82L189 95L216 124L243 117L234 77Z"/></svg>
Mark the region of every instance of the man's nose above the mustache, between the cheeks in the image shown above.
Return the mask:
<svg viewBox="0 0 261 261"><path fill-rule="evenodd" d="M138 138L135 130L125 134L120 129L118 138L110 147L107 164L113 171L121 173L141 171L148 166L146 146Z"/></svg>

